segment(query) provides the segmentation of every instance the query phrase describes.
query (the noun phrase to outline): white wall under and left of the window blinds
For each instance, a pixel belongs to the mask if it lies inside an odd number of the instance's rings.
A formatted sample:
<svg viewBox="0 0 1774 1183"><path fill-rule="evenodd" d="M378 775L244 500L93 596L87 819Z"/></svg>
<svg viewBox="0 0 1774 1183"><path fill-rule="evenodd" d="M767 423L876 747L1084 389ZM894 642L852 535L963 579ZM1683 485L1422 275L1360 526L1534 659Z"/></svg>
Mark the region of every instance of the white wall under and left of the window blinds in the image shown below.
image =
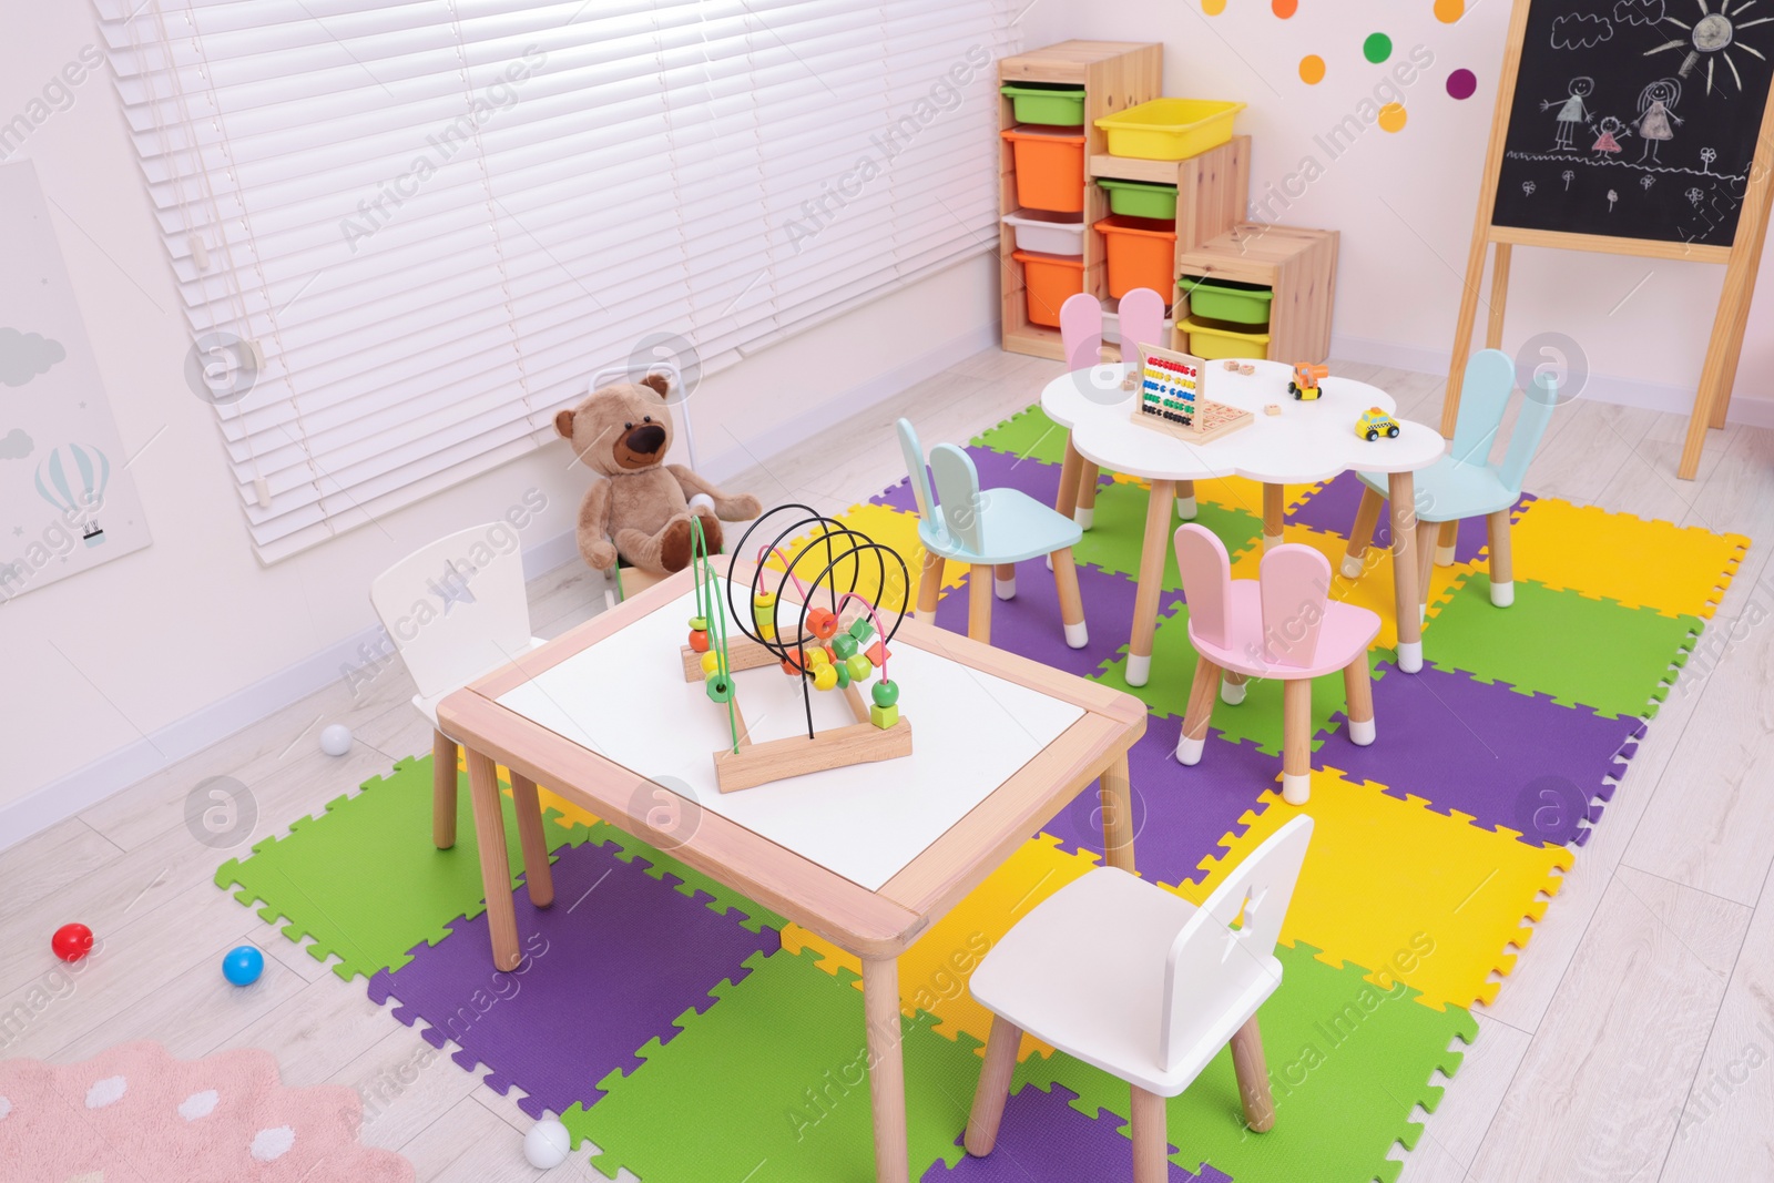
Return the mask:
<svg viewBox="0 0 1774 1183"><path fill-rule="evenodd" d="M99 43L78 2L5 0L0 25L0 122ZM11 158L34 160L48 193L154 544L0 607L0 811L373 626L374 573L527 490L539 488L548 509L523 532L525 548L573 529L587 475L553 443L261 568L211 410L183 380L190 332L108 74L87 80ZM805 427L807 408L846 388L891 385L921 353L977 349L995 319L993 273L992 259L974 259L706 380L694 397L703 466L717 477L743 468L745 447L773 427Z"/></svg>

